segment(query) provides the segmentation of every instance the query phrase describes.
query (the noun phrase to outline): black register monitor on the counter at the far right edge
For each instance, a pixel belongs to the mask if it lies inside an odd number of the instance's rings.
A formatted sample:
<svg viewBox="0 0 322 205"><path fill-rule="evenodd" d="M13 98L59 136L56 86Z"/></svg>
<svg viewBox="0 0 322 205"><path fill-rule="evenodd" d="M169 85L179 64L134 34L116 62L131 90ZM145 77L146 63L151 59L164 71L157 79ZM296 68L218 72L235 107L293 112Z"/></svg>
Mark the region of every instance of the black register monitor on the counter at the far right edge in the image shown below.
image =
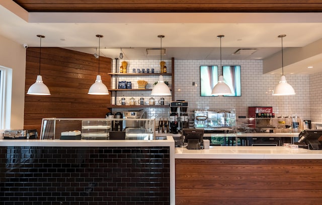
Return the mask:
<svg viewBox="0 0 322 205"><path fill-rule="evenodd" d="M305 129L298 134L298 143L304 143L308 149L322 149L322 129Z"/></svg>

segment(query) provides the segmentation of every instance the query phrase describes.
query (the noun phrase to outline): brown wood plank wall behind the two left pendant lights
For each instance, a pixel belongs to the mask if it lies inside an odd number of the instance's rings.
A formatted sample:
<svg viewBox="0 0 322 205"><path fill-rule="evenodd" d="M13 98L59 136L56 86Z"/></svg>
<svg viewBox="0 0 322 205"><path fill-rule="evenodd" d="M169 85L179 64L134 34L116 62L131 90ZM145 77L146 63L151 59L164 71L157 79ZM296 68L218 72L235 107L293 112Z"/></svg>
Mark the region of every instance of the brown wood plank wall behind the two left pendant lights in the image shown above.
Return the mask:
<svg viewBox="0 0 322 205"><path fill-rule="evenodd" d="M39 73L39 48L26 53L26 86L35 83ZM110 95L89 95L89 88L98 75L98 59L92 54L62 48L41 48L40 74L50 96L25 94L24 129L37 129L42 118L104 118L110 110ZM110 88L112 59L101 57L100 75Z"/></svg>

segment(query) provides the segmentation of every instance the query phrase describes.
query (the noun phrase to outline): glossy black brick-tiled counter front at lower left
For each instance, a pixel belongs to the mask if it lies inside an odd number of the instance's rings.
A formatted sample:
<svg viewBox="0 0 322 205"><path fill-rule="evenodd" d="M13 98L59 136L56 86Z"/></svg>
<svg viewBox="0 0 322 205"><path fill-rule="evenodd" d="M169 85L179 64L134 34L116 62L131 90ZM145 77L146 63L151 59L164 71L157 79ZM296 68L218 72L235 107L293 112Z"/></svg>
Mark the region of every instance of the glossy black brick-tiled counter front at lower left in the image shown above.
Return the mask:
<svg viewBox="0 0 322 205"><path fill-rule="evenodd" d="M0 201L4 205L171 204L171 149L0 146Z"/></svg>

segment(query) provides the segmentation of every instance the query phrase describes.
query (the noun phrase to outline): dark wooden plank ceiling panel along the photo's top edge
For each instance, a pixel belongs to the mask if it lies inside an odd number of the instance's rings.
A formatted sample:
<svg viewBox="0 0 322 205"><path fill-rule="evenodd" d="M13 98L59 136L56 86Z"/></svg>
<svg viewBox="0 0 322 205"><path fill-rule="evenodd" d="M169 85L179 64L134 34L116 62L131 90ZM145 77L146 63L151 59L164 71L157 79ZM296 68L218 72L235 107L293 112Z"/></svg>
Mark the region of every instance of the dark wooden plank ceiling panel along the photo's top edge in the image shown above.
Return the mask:
<svg viewBox="0 0 322 205"><path fill-rule="evenodd" d="M14 0L28 12L322 12L322 1Z"/></svg>

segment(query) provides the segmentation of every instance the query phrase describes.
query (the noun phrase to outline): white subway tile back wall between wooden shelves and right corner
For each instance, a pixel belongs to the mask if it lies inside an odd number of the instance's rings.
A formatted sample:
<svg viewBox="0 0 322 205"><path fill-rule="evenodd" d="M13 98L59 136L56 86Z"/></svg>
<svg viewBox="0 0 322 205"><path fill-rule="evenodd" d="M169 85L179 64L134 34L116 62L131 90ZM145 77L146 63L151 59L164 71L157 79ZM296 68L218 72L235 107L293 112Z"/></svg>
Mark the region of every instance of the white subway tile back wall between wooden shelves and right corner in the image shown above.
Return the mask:
<svg viewBox="0 0 322 205"><path fill-rule="evenodd" d="M236 116L248 116L250 106L271 106L276 116L297 116L309 119L309 75L285 75L286 80L295 89L294 96L272 96L272 90L278 84L280 75L263 74L263 61L223 60L222 65L240 65L241 96L240 97L201 97L200 96L200 66L217 65L220 61L176 61L175 86L176 100L189 102L189 108L202 107L234 107ZM221 73L221 71L219 71ZM190 73L190 75L182 75ZM195 82L197 86L193 86ZM180 91L178 91L180 89Z"/></svg>

